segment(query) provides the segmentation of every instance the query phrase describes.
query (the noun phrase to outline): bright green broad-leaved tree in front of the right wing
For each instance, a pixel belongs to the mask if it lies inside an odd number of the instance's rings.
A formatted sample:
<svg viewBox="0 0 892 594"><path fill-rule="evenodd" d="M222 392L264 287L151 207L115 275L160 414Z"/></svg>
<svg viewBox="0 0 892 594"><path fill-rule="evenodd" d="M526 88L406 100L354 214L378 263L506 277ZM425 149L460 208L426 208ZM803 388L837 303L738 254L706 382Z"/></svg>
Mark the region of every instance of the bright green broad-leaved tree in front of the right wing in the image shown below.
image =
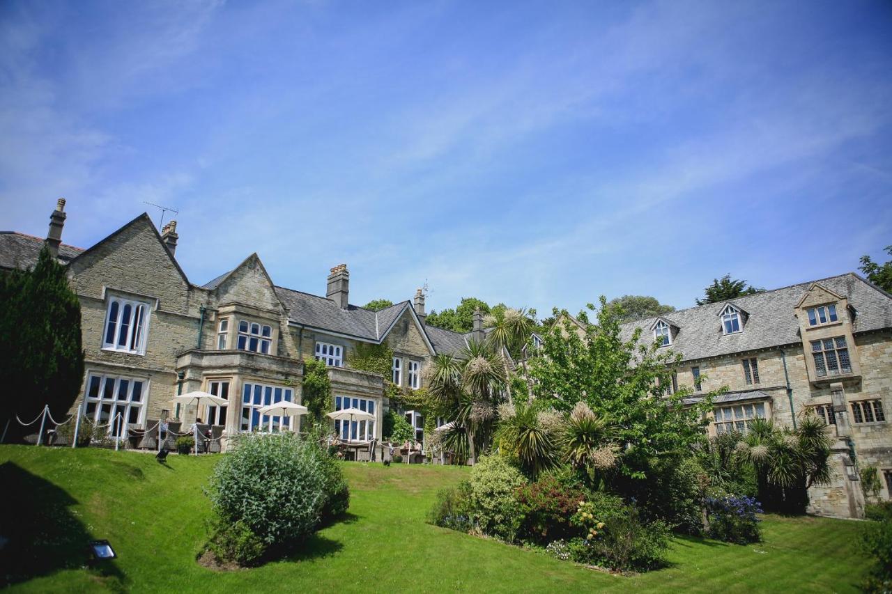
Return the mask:
<svg viewBox="0 0 892 594"><path fill-rule="evenodd" d="M568 412L577 402L585 402L594 418L609 426L614 442L624 447L617 452L617 472L639 480L647 476L654 459L688 452L704 440L703 418L714 392L690 406L684 402L691 396L687 388L665 394L680 356L660 351L656 342L640 343L640 329L624 342L617 306L608 305L603 297L600 305L597 324L589 323L586 311L578 316L582 336L566 311L556 310L564 321L544 333L542 347L530 363L533 392L542 406L558 411ZM588 309L595 312L591 304ZM596 428L600 431L594 426L591 430Z"/></svg>

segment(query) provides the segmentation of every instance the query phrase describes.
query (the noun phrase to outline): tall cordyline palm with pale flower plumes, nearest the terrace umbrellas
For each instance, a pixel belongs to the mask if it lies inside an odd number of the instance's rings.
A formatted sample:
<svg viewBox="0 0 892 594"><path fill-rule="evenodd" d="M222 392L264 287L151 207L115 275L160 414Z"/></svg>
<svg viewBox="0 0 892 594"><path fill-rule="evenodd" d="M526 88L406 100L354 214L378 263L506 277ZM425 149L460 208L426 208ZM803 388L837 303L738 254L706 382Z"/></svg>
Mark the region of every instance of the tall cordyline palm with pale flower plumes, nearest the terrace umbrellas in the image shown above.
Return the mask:
<svg viewBox="0 0 892 594"><path fill-rule="evenodd" d="M486 441L495 406L505 389L500 356L484 343L469 342L460 358L437 355L428 375L428 394L453 410L467 432L468 454L476 462L475 441Z"/></svg>

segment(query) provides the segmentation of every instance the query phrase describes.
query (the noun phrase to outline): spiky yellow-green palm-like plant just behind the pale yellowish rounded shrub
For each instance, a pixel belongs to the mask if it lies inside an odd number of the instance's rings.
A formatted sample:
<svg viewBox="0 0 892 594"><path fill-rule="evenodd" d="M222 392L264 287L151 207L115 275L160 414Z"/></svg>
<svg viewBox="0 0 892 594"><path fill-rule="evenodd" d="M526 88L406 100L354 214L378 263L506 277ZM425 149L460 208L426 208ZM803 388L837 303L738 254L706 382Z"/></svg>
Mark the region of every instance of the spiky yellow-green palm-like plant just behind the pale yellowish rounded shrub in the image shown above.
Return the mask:
<svg viewBox="0 0 892 594"><path fill-rule="evenodd" d="M533 478L554 465L551 427L532 406L518 402L513 414L500 416L496 439L501 448L516 454L524 471Z"/></svg>

